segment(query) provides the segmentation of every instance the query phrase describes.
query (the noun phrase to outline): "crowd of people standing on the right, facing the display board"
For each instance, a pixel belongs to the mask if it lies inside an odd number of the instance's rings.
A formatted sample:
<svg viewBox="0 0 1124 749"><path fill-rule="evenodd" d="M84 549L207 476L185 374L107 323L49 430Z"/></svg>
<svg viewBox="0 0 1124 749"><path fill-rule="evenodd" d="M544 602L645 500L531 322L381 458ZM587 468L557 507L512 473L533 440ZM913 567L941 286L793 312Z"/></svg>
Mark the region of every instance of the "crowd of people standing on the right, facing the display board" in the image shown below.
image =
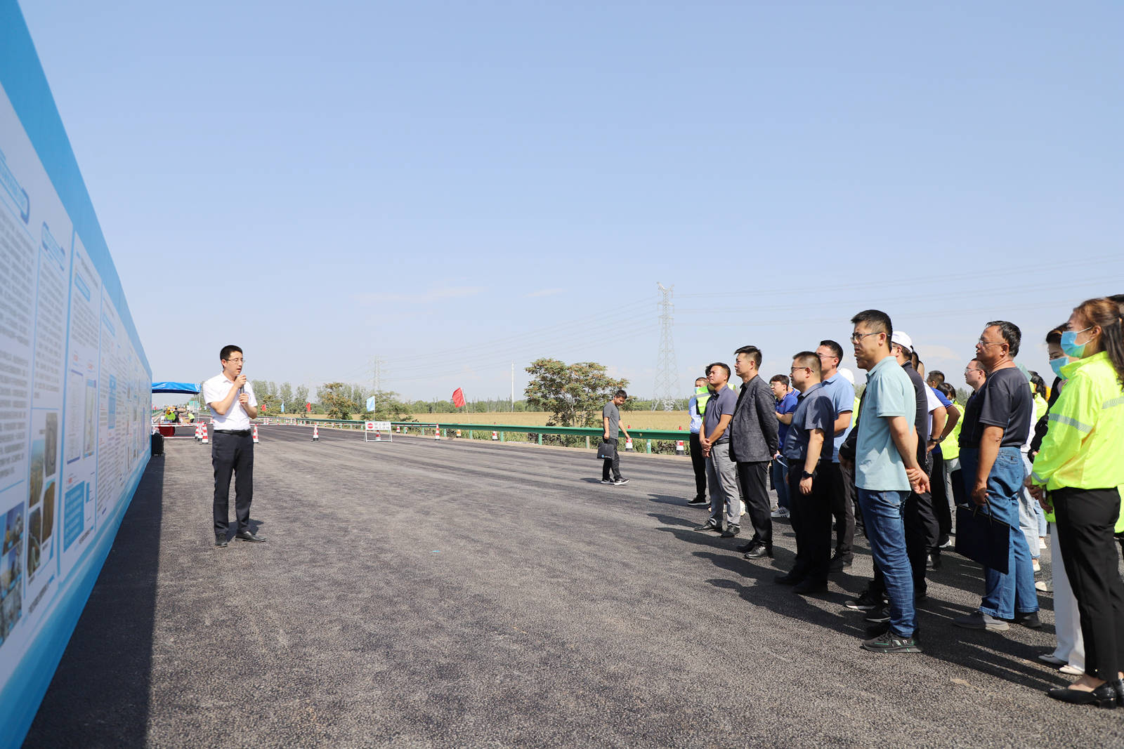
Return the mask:
<svg viewBox="0 0 1124 749"><path fill-rule="evenodd" d="M1050 387L1015 363L1023 331L988 322L964 367L962 404L943 373L925 376L913 339L885 312L851 323L867 372L860 398L834 340L768 381L755 346L696 381L689 504L709 518L695 530L747 537L737 547L745 558L771 558L772 521L787 519L796 558L776 582L815 595L851 566L858 527L874 575L846 605L870 622L861 647L886 654L921 652L916 605L953 538L984 575L976 611L953 623L1041 628L1037 594L1051 588L1035 573L1049 539L1057 648L1041 659L1078 676L1049 694L1124 706L1124 295L1088 300L1045 332Z"/></svg>

